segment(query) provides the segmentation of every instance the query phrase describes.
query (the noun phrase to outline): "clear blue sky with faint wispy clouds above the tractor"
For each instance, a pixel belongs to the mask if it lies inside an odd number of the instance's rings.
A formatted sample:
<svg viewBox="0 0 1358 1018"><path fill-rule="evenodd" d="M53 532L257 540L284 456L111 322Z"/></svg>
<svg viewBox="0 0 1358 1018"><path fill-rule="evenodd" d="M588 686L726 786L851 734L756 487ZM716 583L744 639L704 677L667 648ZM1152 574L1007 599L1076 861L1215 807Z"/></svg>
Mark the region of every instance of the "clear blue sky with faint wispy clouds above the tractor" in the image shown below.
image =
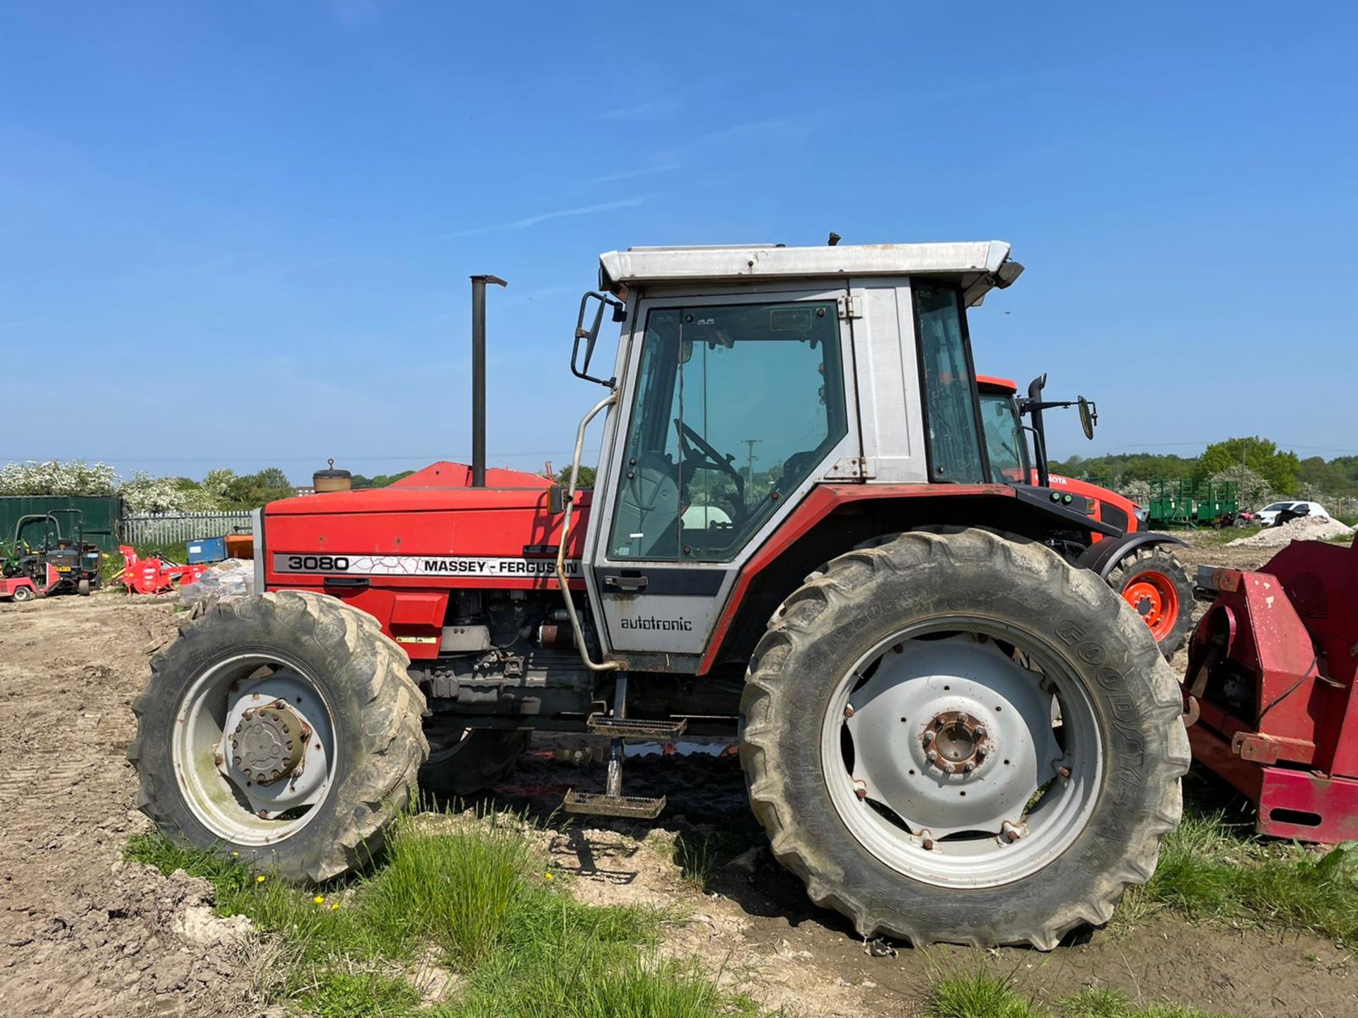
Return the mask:
<svg viewBox="0 0 1358 1018"><path fill-rule="evenodd" d="M490 460L559 467L600 251L831 229L1014 244L972 338L982 371L1097 398L1096 441L1058 419L1054 455L1358 452L1355 29L1338 3L0 3L0 460L466 457L488 271Z"/></svg>

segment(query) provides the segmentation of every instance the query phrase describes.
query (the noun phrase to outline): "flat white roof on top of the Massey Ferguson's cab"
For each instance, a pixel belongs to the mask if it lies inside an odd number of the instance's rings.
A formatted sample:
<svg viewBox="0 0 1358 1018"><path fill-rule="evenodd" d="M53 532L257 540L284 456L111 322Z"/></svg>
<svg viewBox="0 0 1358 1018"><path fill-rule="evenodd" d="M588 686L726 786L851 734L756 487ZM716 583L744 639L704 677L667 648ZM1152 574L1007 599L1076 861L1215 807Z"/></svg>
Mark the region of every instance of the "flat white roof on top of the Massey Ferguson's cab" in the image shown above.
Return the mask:
<svg viewBox="0 0 1358 1018"><path fill-rule="evenodd" d="M994 278L1009 261L1005 240L966 240L937 244L839 244L835 247L631 247L599 255L599 284L604 289L698 280L786 280L827 276L947 276L970 289L990 277L1008 285L1021 271ZM1008 277L1008 278L1004 278ZM980 288L983 293L990 286Z"/></svg>

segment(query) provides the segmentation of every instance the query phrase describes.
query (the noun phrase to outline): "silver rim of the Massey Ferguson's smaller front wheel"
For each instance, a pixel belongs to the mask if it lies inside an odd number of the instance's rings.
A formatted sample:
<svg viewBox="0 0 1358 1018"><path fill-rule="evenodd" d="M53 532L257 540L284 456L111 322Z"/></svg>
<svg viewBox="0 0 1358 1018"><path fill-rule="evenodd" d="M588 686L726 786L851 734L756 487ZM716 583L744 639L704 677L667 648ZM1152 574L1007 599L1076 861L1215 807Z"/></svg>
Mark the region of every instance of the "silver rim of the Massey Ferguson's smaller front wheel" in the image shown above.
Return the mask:
<svg viewBox="0 0 1358 1018"><path fill-rule="evenodd" d="M300 745L284 745L289 737ZM296 661L238 654L181 696L171 755L179 791L209 832L231 844L276 844L311 823L330 794L334 710ZM289 766L273 776L280 763Z"/></svg>

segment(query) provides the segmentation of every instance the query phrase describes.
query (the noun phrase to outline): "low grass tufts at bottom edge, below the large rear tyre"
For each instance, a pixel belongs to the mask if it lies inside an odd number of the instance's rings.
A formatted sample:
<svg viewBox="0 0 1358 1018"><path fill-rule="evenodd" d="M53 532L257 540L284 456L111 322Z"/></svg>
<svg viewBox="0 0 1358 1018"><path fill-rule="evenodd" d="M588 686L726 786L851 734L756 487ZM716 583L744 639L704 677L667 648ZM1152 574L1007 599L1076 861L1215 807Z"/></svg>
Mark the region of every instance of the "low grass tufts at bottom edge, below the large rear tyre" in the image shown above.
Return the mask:
<svg viewBox="0 0 1358 1018"><path fill-rule="evenodd" d="M1133 1003L1116 989L1084 989L1051 1004L1020 992L1012 980L987 973L934 980L925 998L928 1018L1225 1018L1171 1003Z"/></svg>

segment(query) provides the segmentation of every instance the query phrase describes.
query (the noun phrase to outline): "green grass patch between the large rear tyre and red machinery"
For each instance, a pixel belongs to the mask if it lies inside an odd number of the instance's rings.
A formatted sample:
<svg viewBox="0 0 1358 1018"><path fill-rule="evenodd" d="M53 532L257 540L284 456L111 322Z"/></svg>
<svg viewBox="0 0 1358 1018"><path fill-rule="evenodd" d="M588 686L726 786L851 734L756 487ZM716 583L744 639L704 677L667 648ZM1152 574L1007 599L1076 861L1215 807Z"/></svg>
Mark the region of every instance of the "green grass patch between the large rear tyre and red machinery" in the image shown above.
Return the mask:
<svg viewBox="0 0 1358 1018"><path fill-rule="evenodd" d="M1156 874L1127 892L1120 922L1171 911L1233 926L1309 930L1358 942L1358 846L1319 852L1256 837L1222 813L1188 809Z"/></svg>

